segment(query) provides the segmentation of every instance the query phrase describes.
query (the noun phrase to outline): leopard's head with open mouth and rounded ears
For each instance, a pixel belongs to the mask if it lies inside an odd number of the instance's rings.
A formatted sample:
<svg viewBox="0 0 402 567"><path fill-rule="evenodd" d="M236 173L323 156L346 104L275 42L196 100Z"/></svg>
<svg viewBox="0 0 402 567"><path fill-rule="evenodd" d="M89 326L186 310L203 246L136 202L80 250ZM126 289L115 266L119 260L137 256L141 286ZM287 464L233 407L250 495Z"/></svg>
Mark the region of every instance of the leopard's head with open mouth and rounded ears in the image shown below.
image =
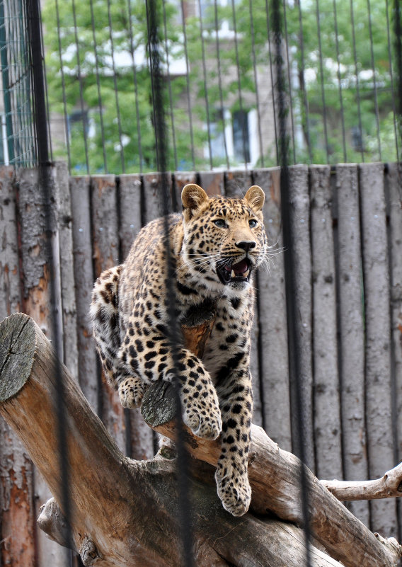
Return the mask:
<svg viewBox="0 0 402 567"><path fill-rule="evenodd" d="M190 273L210 290L246 290L253 270L267 255L265 200L258 185L241 198L208 197L195 183L185 185L182 253Z"/></svg>

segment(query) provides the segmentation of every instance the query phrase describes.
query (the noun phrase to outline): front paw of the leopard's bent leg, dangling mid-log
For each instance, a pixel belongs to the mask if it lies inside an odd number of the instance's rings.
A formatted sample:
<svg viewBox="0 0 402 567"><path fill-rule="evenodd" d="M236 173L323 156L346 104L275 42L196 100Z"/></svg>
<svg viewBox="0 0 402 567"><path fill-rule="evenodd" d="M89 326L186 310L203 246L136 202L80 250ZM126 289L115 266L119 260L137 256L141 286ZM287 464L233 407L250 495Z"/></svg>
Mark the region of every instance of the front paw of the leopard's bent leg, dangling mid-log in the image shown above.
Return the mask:
<svg viewBox="0 0 402 567"><path fill-rule="evenodd" d="M183 406L183 421L197 437L217 439L222 431L222 416L219 410L218 397L214 390L205 389L202 396L197 389L183 388L181 403Z"/></svg>

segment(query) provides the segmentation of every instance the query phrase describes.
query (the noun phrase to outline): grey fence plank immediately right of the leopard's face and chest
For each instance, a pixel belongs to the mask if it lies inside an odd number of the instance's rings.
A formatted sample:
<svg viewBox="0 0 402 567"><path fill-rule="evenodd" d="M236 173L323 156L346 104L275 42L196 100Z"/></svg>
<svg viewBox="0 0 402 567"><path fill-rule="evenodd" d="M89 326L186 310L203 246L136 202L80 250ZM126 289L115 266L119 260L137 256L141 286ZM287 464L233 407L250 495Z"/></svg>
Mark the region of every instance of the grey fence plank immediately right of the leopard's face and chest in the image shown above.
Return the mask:
<svg viewBox="0 0 402 567"><path fill-rule="evenodd" d="M290 451L292 433L289 399L289 355L285 275L280 215L280 169L253 171L253 182L265 191L263 208L272 260L258 272L258 317L260 328L260 381L263 400L263 423L268 435Z"/></svg>

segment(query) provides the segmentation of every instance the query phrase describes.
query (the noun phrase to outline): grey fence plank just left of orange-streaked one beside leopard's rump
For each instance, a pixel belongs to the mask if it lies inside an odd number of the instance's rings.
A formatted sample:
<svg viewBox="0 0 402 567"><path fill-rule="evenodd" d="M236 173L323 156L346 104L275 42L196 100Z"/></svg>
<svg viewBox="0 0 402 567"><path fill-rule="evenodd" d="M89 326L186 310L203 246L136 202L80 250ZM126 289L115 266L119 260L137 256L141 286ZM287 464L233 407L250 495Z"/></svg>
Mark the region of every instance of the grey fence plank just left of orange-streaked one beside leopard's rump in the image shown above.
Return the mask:
<svg viewBox="0 0 402 567"><path fill-rule="evenodd" d="M93 274L91 244L90 178L70 177L71 216L76 287L76 319L79 384L96 413L99 411L97 356L89 320Z"/></svg>

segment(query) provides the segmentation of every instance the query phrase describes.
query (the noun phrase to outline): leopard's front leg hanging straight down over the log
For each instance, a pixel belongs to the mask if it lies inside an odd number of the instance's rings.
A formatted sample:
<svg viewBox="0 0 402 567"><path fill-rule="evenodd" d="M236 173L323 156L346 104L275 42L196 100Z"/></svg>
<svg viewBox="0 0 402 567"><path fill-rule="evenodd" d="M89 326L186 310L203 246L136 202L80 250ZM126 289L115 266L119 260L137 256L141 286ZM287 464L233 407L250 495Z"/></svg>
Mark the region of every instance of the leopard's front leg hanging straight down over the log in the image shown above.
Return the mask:
<svg viewBox="0 0 402 567"><path fill-rule="evenodd" d="M234 516L248 510L251 487L247 465L253 392L248 365L231 371L217 389L222 400L222 444L215 480L224 508Z"/></svg>

